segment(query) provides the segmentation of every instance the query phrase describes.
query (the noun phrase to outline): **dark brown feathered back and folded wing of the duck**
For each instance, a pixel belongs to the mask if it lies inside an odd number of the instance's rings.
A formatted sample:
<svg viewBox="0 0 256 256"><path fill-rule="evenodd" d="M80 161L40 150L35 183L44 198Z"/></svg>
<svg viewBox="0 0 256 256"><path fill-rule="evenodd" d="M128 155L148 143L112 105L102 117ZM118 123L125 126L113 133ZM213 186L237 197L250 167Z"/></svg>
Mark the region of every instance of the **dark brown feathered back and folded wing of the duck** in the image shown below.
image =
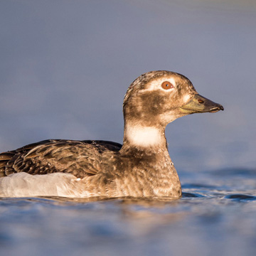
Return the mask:
<svg viewBox="0 0 256 256"><path fill-rule="evenodd" d="M85 178L102 171L102 154L112 154L121 144L108 141L48 139L0 154L0 178L19 172L69 173Z"/></svg>

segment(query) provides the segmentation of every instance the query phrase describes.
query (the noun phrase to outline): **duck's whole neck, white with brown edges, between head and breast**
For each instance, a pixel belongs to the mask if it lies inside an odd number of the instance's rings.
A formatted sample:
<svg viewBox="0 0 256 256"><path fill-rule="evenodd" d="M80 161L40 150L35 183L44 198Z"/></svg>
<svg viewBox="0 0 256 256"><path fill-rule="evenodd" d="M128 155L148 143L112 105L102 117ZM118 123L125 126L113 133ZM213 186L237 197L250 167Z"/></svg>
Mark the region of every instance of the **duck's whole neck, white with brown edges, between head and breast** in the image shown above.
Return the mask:
<svg viewBox="0 0 256 256"><path fill-rule="evenodd" d="M146 127L141 124L124 124L124 143L122 151L167 151L164 127Z"/></svg>

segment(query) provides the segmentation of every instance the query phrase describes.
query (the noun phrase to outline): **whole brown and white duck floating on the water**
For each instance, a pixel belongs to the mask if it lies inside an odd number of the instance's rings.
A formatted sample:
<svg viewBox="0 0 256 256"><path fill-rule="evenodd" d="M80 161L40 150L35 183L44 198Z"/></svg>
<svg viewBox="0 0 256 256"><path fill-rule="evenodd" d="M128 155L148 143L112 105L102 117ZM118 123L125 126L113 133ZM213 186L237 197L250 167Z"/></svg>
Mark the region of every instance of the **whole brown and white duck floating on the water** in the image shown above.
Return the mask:
<svg viewBox="0 0 256 256"><path fill-rule="evenodd" d="M0 196L178 198L181 183L168 153L166 124L218 110L223 107L198 95L182 75L146 73L124 97L123 145L50 139L4 152Z"/></svg>

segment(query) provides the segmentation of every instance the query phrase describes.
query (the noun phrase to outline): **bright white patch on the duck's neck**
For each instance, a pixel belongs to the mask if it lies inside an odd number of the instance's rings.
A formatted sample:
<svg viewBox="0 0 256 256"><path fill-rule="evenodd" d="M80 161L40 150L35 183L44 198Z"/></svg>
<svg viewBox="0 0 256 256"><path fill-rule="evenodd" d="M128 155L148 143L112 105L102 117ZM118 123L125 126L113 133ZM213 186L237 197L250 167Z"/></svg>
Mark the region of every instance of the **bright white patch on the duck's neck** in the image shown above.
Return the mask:
<svg viewBox="0 0 256 256"><path fill-rule="evenodd" d="M162 142L162 134L154 127L142 127L139 125L127 126L126 135L129 142L137 146L155 146Z"/></svg>

